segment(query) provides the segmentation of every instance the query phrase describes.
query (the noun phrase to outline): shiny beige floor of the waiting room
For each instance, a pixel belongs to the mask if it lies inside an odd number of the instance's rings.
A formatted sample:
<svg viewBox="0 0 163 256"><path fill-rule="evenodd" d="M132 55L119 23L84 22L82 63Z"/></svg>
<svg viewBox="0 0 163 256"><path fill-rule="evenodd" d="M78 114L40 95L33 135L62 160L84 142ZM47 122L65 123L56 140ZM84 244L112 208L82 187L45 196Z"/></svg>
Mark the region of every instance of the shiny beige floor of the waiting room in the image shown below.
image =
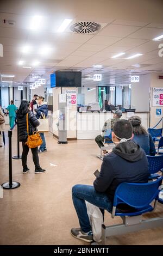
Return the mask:
<svg viewBox="0 0 163 256"><path fill-rule="evenodd" d="M5 132L7 136L7 132ZM16 155L17 131L12 134L12 155ZM32 155L28 156L30 172L22 174L21 160L12 160L13 181L21 183L15 190L3 190L0 199L1 245L86 245L70 234L79 227L73 208L71 188L75 184L92 184L93 172L102 161L93 140L57 144L51 134L46 135L47 152L40 154L40 164L46 173L34 174ZM0 148L0 183L8 181L8 139ZM56 164L53 166L51 164ZM152 216L162 216L163 205ZM106 224L121 223L120 218L105 215ZM162 228L113 236L108 245L162 245Z"/></svg>

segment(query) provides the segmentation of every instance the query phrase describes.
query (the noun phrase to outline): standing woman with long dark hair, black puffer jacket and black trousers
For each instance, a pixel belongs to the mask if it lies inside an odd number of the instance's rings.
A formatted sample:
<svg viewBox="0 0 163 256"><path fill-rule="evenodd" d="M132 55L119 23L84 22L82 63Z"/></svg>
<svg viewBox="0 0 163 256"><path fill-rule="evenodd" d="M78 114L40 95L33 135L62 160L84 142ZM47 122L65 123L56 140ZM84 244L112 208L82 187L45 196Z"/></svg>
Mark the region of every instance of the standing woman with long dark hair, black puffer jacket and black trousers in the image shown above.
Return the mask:
<svg viewBox="0 0 163 256"><path fill-rule="evenodd" d="M29 152L28 146L25 144L27 142L27 121L26 115L28 113L28 123L29 123L29 135L32 135L36 131L36 127L39 126L39 120L37 120L35 114L29 110L30 102L28 100L23 100L21 102L20 108L17 111L17 125L19 128L18 141L22 142L23 153L22 153L22 166L23 173L29 172L27 167L27 155ZM31 149L33 155L33 162L35 164L35 173L44 173L46 170L40 167L38 147Z"/></svg>

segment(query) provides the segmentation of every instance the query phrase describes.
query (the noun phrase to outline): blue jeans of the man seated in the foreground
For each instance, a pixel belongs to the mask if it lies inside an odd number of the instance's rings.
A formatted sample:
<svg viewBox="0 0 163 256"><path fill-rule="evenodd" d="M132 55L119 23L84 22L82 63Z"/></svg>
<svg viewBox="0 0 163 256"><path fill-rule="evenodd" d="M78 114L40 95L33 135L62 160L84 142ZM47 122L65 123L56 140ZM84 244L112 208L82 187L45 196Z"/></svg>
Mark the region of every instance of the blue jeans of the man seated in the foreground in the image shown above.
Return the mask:
<svg viewBox="0 0 163 256"><path fill-rule="evenodd" d="M106 196L105 193L97 192L93 186L79 184L73 186L72 200L79 218L80 227L85 233L91 230L85 200L101 209L105 209L109 212L112 211L112 203L108 196Z"/></svg>

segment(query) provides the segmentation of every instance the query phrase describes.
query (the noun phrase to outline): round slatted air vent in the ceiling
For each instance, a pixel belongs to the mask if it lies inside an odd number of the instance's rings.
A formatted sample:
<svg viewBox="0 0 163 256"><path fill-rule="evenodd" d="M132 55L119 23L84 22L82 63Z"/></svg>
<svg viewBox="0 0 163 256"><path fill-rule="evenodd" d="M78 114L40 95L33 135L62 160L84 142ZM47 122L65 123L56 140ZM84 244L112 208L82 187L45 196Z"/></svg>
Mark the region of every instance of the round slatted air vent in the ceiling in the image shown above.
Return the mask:
<svg viewBox="0 0 163 256"><path fill-rule="evenodd" d="M95 33L101 29L102 26L99 23L91 21L81 21L74 23L70 26L70 30L74 33L90 34Z"/></svg>

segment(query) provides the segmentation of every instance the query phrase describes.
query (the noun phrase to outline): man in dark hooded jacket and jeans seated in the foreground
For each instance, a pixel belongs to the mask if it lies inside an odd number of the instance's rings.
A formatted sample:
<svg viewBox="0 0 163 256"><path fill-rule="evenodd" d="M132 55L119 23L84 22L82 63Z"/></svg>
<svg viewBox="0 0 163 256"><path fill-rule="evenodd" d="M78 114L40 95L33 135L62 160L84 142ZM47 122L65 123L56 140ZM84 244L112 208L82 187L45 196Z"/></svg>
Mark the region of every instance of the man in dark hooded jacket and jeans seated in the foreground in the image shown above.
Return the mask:
<svg viewBox="0 0 163 256"><path fill-rule="evenodd" d="M122 182L148 182L148 160L145 151L134 141L133 128L129 121L119 120L114 124L112 141L116 147L103 159L101 172L90 185L75 185L72 199L80 228L72 228L71 234L86 242L93 240L85 200L101 209L112 211L112 202L117 186Z"/></svg>

